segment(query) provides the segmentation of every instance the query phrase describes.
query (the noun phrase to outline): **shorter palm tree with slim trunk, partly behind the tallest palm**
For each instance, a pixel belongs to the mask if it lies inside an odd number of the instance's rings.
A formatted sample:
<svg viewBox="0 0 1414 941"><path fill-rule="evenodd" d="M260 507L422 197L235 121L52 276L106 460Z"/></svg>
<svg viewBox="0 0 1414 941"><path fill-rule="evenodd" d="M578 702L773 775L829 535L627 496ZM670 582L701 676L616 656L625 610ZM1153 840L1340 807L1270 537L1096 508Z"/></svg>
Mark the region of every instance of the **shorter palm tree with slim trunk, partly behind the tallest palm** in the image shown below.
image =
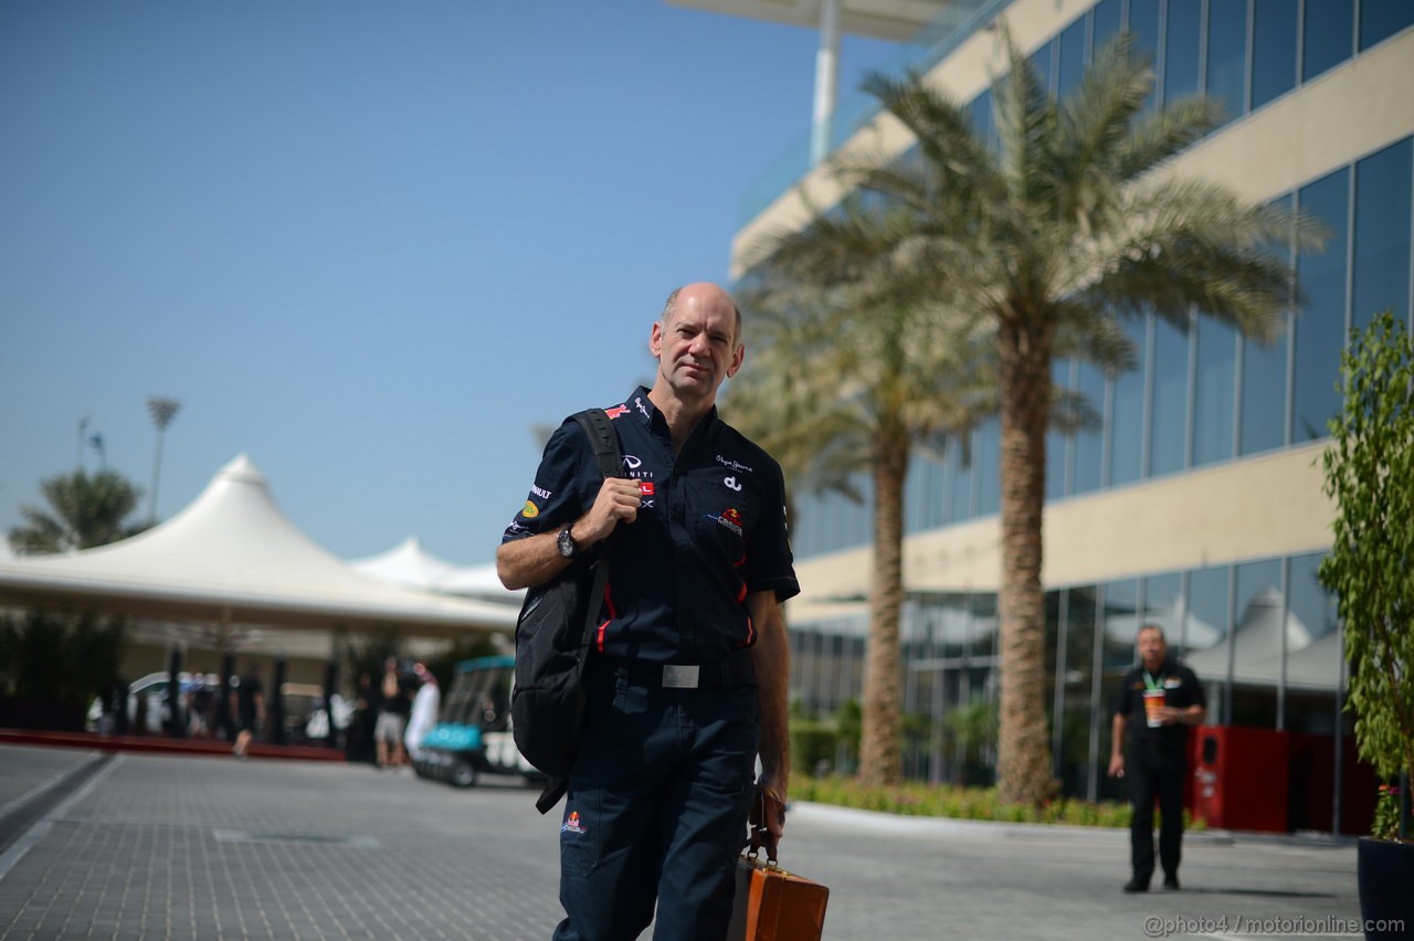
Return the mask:
<svg viewBox="0 0 1414 941"><path fill-rule="evenodd" d="M994 396L988 357L970 355L966 331L947 329L935 298L913 294L904 253L836 254L840 244L877 246L898 211L846 201L816 219L807 242L785 236L745 292L771 335L769 379L758 396L789 415L775 442L792 463L867 472L874 490L874 560L864 667L860 779L896 783L902 774L899 620L904 608L904 493L915 451L964 434ZM826 261L814 251L829 254ZM827 290L802 267L837 264L848 280ZM904 266L904 267L901 267ZM772 398L772 396L775 396Z"/></svg>

